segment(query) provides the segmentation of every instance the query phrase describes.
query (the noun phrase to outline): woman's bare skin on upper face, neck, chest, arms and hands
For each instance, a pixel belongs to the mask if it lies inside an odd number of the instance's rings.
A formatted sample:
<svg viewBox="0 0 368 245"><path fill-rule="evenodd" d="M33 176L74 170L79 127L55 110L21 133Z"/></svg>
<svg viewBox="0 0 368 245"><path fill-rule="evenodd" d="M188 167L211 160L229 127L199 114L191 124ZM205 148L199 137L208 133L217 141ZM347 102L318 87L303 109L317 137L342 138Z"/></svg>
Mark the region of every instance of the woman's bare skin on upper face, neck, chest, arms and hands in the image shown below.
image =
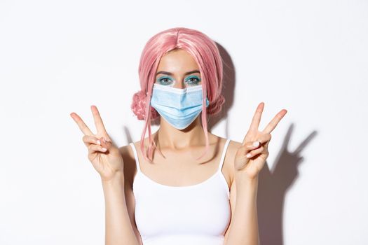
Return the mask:
<svg viewBox="0 0 368 245"><path fill-rule="evenodd" d="M190 74L190 71L198 71ZM163 78L170 86L184 88L200 85L199 67L196 61L184 50L168 52L161 58L157 71L156 83ZM161 81L162 82L162 81ZM168 84L169 85L169 84ZM225 232L224 244L259 244L257 218L257 187L259 172L268 157L268 144L271 132L285 116L282 109L268 123L264 130L259 130L264 103L261 102L252 118L242 142L230 141L226 152L222 173L230 188L231 222ZM134 155L130 146L118 148L107 134L100 113L96 106L91 106L95 120L96 134L90 131L81 117L71 113L83 133L83 142L88 148L88 159L100 174L104 189L106 206L105 244L140 244L142 239L134 219L135 200L132 193L132 181L137 173ZM138 151L141 170L152 180L167 186L191 186L208 179L216 172L222 148L226 139L208 132L210 151L200 160L195 160L205 150L205 134L200 123L200 116L184 130L177 130L161 118L159 129L153 134L157 140L160 154L154 154L152 167ZM104 141L106 139L107 141ZM258 145L253 145L259 142ZM135 142L139 149L140 142ZM148 140L144 140L148 145ZM106 149L104 149L106 148ZM250 154L247 156L247 154ZM205 165L199 167L200 163ZM205 167L203 167L205 166ZM198 171L200 169L200 171ZM183 173L197 173L183 174ZM191 176L184 179L183 176Z"/></svg>

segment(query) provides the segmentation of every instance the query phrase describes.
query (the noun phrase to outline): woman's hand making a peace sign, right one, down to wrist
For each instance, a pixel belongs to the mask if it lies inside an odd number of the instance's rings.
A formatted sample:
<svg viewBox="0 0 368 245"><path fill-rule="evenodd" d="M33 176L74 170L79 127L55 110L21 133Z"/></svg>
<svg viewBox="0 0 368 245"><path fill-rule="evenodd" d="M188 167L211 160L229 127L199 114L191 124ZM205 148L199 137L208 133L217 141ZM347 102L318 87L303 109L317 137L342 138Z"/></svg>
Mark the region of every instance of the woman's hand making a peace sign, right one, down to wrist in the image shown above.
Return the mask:
<svg viewBox="0 0 368 245"><path fill-rule="evenodd" d="M250 129L245 135L242 146L238 148L234 160L236 174L245 174L245 177L250 180L256 179L262 167L264 167L264 163L268 157L268 144L271 140L271 132L287 113L287 110L282 109L276 114L273 120L268 123L263 131L259 131L258 127L263 109L264 102L261 102L257 106ZM253 145L257 143L257 141L259 141L259 144Z"/></svg>

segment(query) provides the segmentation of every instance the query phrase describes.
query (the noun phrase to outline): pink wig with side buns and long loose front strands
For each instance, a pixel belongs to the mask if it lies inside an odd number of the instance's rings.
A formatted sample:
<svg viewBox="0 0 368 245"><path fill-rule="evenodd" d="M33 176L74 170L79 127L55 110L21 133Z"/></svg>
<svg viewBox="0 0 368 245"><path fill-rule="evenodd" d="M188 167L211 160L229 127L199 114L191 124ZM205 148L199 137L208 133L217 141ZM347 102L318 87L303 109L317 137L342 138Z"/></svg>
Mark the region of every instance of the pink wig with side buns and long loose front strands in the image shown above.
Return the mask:
<svg viewBox="0 0 368 245"><path fill-rule="evenodd" d="M203 86L203 110L202 125L206 137L205 155L209 148L207 134L207 113L214 115L222 109L225 99L222 91L222 57L219 54L217 45L207 35L194 29L177 27L161 31L152 36L147 41L139 61L139 81L141 90L136 92L132 99L132 111L139 120L144 120L144 129L141 137L140 148L144 159L152 162L153 151L156 144L151 137L151 120L158 118L159 114L150 105L152 88L156 79L156 71L161 57L166 52L175 49L183 49L196 60ZM205 107L205 98L210 101L209 106ZM147 153L144 153L144 137L146 130L149 133L149 147ZM198 159L202 158L200 155Z"/></svg>

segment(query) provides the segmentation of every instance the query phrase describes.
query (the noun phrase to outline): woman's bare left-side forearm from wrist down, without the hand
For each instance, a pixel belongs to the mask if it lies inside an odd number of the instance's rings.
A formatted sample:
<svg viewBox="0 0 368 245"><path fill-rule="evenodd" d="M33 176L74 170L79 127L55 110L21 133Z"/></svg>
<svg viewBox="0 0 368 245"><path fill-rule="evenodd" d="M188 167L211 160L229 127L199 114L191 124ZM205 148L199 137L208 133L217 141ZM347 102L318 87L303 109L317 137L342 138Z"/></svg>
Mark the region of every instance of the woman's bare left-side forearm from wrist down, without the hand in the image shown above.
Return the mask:
<svg viewBox="0 0 368 245"><path fill-rule="evenodd" d="M139 245L125 202L124 176L117 174L111 181L102 181L105 200L105 244Z"/></svg>

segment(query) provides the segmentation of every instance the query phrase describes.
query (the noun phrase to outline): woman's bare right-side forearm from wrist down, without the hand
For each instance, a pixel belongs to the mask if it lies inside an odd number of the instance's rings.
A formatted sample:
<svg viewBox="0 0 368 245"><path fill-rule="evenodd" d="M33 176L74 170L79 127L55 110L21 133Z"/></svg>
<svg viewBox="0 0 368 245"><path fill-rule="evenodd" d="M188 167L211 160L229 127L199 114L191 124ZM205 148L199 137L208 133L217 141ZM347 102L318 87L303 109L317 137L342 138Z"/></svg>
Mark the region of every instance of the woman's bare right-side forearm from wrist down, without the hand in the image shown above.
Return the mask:
<svg viewBox="0 0 368 245"><path fill-rule="evenodd" d="M236 178L235 209L225 245L259 244L257 217L258 178L252 181Z"/></svg>

